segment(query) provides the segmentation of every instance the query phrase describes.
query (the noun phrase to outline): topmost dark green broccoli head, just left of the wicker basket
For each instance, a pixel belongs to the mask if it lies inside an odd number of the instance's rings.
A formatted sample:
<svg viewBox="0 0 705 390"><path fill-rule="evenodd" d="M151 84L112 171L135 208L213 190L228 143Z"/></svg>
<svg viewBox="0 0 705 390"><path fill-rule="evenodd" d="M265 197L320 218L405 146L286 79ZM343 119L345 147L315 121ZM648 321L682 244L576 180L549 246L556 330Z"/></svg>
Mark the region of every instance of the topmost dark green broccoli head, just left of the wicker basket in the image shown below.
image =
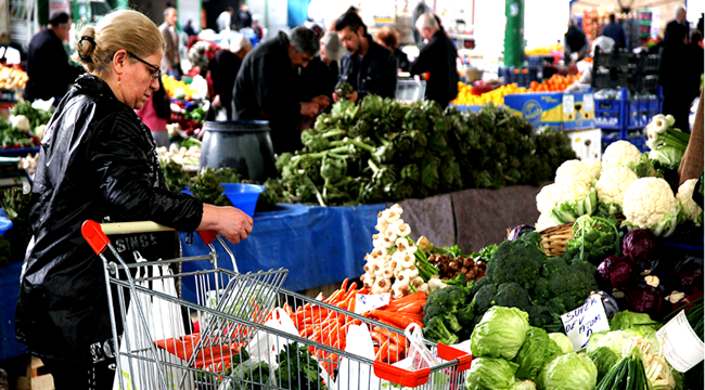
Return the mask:
<svg viewBox="0 0 705 390"><path fill-rule="evenodd" d="M498 285L515 282L526 289L533 289L544 260L546 253L536 245L524 239L505 240L497 248L486 272Z"/></svg>

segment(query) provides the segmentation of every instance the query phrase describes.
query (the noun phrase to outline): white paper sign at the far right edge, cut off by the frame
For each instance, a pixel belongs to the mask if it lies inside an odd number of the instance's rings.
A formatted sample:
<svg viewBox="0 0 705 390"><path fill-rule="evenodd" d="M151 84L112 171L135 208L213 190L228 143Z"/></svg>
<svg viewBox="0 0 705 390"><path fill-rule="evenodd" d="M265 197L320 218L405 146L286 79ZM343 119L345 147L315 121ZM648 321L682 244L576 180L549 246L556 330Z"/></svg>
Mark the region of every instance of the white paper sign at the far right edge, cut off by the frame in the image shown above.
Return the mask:
<svg viewBox="0 0 705 390"><path fill-rule="evenodd" d="M664 356L668 363L684 373L703 361L705 348L703 341L688 323L685 312L681 310L671 321L656 333Z"/></svg>

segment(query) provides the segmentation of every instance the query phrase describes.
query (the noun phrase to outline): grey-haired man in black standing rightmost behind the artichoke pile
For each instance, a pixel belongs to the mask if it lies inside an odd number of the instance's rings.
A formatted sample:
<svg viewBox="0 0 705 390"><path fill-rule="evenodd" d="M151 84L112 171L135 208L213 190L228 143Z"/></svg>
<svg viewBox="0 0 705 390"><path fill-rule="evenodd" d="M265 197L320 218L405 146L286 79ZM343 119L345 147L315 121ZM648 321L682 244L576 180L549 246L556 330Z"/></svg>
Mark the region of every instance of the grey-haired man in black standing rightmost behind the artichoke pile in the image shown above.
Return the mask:
<svg viewBox="0 0 705 390"><path fill-rule="evenodd" d="M425 13L419 16L416 29L428 43L421 48L419 57L411 64L411 74L430 74L426 100L436 101L445 108L458 96L458 51L434 15Z"/></svg>

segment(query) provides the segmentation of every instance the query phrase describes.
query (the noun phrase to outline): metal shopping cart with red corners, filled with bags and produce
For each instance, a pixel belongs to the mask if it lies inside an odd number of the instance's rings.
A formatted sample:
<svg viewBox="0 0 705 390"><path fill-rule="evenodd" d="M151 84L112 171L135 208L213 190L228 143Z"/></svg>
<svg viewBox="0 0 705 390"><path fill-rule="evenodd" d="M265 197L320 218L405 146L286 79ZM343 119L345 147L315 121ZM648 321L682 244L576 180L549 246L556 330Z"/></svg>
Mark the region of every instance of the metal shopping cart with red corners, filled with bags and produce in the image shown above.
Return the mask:
<svg viewBox="0 0 705 390"><path fill-rule="evenodd" d="M114 388L381 390L462 387L462 372L470 367L472 356L448 346L423 340L443 363L415 370L389 364L403 361L403 348L385 349L385 355L379 354L375 360L346 352L345 341L341 343L339 340L345 340L345 333L352 325L362 328L360 325L364 324L375 339L403 340L399 346L407 346L405 332L282 289L286 270L240 274L220 268L214 240L225 247L233 269L238 270L234 256L213 232L201 232L210 248L207 256L129 264L105 236L105 233L165 229L168 227L153 222L100 225L86 221L82 226L84 237L103 261L108 302L117 302L110 304L113 348L117 351L118 374ZM113 260L108 260L106 250ZM175 264L198 260L209 260L213 269L171 272ZM195 302L178 298L174 288L169 288L178 278L187 277L195 280ZM116 300L113 300L114 295ZM275 313L286 312L274 308L289 310L286 316L296 327L295 332L272 325ZM184 312L189 313L185 321ZM322 338L307 337L308 325L324 324L337 326ZM297 335L298 328L304 330ZM331 337L338 338L338 342L332 342Z"/></svg>

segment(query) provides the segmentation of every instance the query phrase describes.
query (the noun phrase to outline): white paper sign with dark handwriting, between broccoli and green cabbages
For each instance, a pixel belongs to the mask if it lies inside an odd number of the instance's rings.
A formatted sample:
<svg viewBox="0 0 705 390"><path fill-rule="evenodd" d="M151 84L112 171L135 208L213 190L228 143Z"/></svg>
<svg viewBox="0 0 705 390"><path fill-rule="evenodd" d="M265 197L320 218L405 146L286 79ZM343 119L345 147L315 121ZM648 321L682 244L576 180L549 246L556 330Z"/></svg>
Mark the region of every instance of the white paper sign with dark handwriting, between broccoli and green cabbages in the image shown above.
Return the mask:
<svg viewBox="0 0 705 390"><path fill-rule="evenodd" d="M610 330L607 314L602 301L597 298L590 298L578 309L561 315L561 320L576 352L588 344L593 333Z"/></svg>

